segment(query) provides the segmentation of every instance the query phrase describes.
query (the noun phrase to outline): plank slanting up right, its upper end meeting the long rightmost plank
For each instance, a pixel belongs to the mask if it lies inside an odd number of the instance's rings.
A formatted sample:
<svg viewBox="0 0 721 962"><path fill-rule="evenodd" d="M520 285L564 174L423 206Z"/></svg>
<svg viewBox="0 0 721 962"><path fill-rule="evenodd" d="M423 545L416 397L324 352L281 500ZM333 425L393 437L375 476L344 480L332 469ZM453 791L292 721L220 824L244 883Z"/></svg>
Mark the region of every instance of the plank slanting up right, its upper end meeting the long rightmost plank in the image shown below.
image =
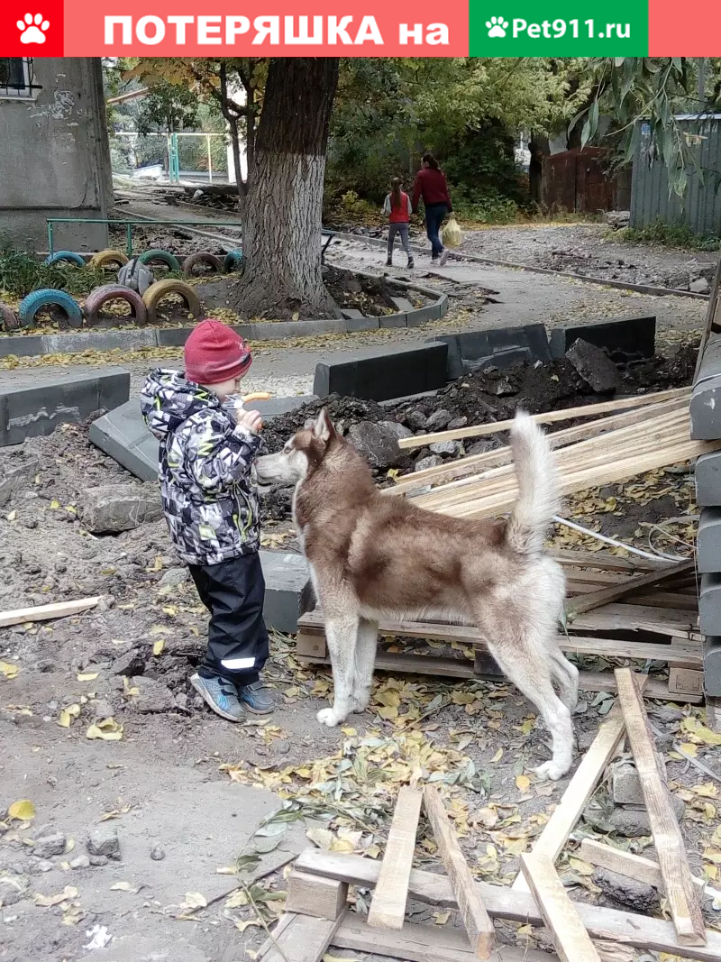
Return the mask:
<svg viewBox="0 0 721 962"><path fill-rule="evenodd" d="M647 680L647 675L641 675L639 680L641 689ZM560 851L581 818L610 760L618 751L625 730L621 707L615 704L601 722L596 737L581 759L559 804L535 840L533 848L535 855L544 855L551 862L555 862L559 857ZM523 873L518 873L512 889L516 892L528 892L528 883Z"/></svg>

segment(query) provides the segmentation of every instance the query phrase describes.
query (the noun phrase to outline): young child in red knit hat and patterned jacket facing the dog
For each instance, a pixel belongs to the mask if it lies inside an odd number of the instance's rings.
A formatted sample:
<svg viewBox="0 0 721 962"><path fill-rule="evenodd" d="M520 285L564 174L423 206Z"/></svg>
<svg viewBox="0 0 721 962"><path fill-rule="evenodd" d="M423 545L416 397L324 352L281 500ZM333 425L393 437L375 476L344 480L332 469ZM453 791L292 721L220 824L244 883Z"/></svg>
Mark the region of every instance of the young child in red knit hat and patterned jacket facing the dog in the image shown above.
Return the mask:
<svg viewBox="0 0 721 962"><path fill-rule="evenodd" d="M214 712L239 722L245 708L261 715L273 710L260 680L268 636L253 474L262 421L257 411L223 403L239 391L252 362L230 327L201 321L187 339L185 362L183 373L153 371L140 403L161 443L170 537L211 612L208 650L190 682Z"/></svg>

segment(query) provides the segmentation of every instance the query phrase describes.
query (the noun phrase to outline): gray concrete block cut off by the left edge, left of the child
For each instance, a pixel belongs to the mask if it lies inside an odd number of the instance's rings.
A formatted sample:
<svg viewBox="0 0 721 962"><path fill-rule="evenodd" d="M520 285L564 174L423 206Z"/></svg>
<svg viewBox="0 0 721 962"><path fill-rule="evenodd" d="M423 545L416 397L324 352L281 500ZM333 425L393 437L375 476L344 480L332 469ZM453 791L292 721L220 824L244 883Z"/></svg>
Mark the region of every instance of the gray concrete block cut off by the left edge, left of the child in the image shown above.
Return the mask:
<svg viewBox="0 0 721 962"><path fill-rule="evenodd" d="M112 411L130 396L130 373L101 367L87 374L0 378L0 447L52 434L58 424L80 423L101 408Z"/></svg>

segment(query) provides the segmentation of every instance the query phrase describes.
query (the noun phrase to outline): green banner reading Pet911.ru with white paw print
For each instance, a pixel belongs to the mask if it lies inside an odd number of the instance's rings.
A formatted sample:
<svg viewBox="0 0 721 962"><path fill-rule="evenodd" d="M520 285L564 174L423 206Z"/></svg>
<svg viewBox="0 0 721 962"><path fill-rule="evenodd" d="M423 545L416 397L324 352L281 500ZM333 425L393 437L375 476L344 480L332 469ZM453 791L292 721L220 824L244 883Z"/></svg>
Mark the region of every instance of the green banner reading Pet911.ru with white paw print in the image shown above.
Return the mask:
<svg viewBox="0 0 721 962"><path fill-rule="evenodd" d="M648 0L471 2L471 57L646 57Z"/></svg>

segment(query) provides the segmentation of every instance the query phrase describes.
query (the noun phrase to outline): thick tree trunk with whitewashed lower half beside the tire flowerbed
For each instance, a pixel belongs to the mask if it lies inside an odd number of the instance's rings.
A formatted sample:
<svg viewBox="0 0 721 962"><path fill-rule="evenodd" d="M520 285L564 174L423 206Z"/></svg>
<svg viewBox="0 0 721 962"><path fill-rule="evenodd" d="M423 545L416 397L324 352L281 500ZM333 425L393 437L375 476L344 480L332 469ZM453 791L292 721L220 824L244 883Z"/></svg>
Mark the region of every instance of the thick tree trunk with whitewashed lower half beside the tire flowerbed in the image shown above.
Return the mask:
<svg viewBox="0 0 721 962"><path fill-rule="evenodd" d="M274 58L268 68L245 206L244 316L339 316L323 285L323 176L338 58Z"/></svg>

